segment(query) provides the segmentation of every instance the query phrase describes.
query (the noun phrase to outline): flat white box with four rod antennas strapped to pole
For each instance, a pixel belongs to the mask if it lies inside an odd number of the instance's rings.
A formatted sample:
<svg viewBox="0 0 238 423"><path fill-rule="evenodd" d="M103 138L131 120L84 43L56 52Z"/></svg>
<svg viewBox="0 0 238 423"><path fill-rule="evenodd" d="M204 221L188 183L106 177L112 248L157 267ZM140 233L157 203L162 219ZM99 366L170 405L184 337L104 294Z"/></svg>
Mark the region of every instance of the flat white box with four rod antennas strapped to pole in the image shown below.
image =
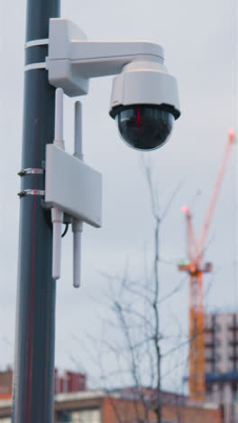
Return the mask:
<svg viewBox="0 0 238 423"><path fill-rule="evenodd" d="M55 94L54 142L46 146L45 202L51 206L52 277L59 279L63 221L72 221L73 286L80 287L83 221L95 228L102 222L102 175L83 162L82 106L75 103L74 155L65 151L63 140L63 89ZM67 218L67 219L66 219Z"/></svg>

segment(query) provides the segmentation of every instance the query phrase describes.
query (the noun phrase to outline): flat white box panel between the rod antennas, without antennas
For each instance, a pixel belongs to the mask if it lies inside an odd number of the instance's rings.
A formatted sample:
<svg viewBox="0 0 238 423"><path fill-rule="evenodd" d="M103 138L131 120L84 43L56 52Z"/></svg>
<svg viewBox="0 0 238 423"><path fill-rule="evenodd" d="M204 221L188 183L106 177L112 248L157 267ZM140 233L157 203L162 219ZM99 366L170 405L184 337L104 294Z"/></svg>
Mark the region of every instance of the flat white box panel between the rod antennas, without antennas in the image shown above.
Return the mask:
<svg viewBox="0 0 238 423"><path fill-rule="evenodd" d="M46 146L45 172L45 201L100 228L102 174L52 144Z"/></svg>

